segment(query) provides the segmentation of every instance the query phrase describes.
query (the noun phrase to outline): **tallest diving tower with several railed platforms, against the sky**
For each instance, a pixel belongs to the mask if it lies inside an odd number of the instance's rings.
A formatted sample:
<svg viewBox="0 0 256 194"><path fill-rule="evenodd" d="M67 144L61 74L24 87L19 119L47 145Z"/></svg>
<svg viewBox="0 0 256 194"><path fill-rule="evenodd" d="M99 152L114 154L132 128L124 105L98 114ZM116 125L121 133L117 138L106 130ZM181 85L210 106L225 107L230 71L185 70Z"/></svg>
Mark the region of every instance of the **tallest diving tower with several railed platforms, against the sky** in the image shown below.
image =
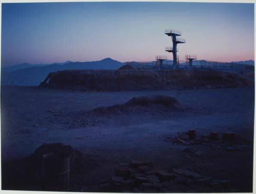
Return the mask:
<svg viewBox="0 0 256 194"><path fill-rule="evenodd" d="M171 36L173 40L173 47L165 47L165 51L173 53L173 56L174 56L173 67L177 68L179 64L178 57L177 57L177 52L178 52L177 44L185 43L186 40L184 38L177 37L177 36L181 36L181 31L178 31L178 30L174 30L174 29L165 30L165 34L168 36Z"/></svg>

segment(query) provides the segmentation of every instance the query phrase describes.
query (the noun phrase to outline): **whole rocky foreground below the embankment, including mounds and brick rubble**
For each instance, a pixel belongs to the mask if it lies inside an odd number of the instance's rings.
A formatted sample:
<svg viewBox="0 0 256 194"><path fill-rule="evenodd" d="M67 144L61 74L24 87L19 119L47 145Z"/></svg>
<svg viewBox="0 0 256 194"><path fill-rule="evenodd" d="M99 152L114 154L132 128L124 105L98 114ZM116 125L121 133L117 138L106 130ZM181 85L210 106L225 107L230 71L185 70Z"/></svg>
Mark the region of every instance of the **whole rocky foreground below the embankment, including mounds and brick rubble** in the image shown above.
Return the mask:
<svg viewBox="0 0 256 194"><path fill-rule="evenodd" d="M2 189L44 190L40 157L66 149L69 191L251 192L253 124L253 87L1 86Z"/></svg>

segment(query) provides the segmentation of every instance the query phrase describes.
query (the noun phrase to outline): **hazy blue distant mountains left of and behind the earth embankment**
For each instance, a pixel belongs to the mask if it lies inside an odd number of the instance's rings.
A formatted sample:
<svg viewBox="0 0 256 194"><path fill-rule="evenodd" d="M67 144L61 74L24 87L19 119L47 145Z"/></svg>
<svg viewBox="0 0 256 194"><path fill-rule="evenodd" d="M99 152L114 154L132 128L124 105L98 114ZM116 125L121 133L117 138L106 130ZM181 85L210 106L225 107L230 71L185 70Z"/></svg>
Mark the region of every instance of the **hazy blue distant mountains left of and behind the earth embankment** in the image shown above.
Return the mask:
<svg viewBox="0 0 256 194"><path fill-rule="evenodd" d="M40 67L30 64L20 64L15 67L11 66L12 68L2 68L1 84L38 85L51 72L70 69L118 69L123 65L123 63L110 58L90 62L66 61L64 63L53 63ZM6 70L6 68L9 69ZM15 68L16 70L13 70Z"/></svg>

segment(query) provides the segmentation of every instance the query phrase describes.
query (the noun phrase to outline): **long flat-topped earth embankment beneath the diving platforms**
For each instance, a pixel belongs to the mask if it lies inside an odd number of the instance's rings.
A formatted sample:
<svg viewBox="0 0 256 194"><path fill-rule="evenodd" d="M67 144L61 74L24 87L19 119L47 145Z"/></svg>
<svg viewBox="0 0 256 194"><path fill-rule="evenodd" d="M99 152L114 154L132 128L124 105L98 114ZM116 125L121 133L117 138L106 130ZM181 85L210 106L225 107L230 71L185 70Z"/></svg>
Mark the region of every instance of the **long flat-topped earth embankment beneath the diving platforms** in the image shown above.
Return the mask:
<svg viewBox="0 0 256 194"><path fill-rule="evenodd" d="M49 76L48 88L82 91L138 91L236 88L252 85L234 73L215 70L66 70Z"/></svg>

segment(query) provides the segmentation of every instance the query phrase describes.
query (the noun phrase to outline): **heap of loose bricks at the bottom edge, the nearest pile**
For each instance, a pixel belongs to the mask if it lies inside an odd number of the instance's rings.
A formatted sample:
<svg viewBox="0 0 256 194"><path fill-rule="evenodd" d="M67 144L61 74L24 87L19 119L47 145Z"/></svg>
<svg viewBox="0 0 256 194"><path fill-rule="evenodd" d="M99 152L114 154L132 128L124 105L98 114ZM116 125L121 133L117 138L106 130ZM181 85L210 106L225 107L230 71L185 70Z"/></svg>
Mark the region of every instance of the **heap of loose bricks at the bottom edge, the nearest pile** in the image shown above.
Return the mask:
<svg viewBox="0 0 256 194"><path fill-rule="evenodd" d="M150 161L133 160L115 168L115 175L94 187L98 192L173 193L173 192L227 192L229 180L213 180L187 169L155 170ZM82 191L91 191L83 188Z"/></svg>

